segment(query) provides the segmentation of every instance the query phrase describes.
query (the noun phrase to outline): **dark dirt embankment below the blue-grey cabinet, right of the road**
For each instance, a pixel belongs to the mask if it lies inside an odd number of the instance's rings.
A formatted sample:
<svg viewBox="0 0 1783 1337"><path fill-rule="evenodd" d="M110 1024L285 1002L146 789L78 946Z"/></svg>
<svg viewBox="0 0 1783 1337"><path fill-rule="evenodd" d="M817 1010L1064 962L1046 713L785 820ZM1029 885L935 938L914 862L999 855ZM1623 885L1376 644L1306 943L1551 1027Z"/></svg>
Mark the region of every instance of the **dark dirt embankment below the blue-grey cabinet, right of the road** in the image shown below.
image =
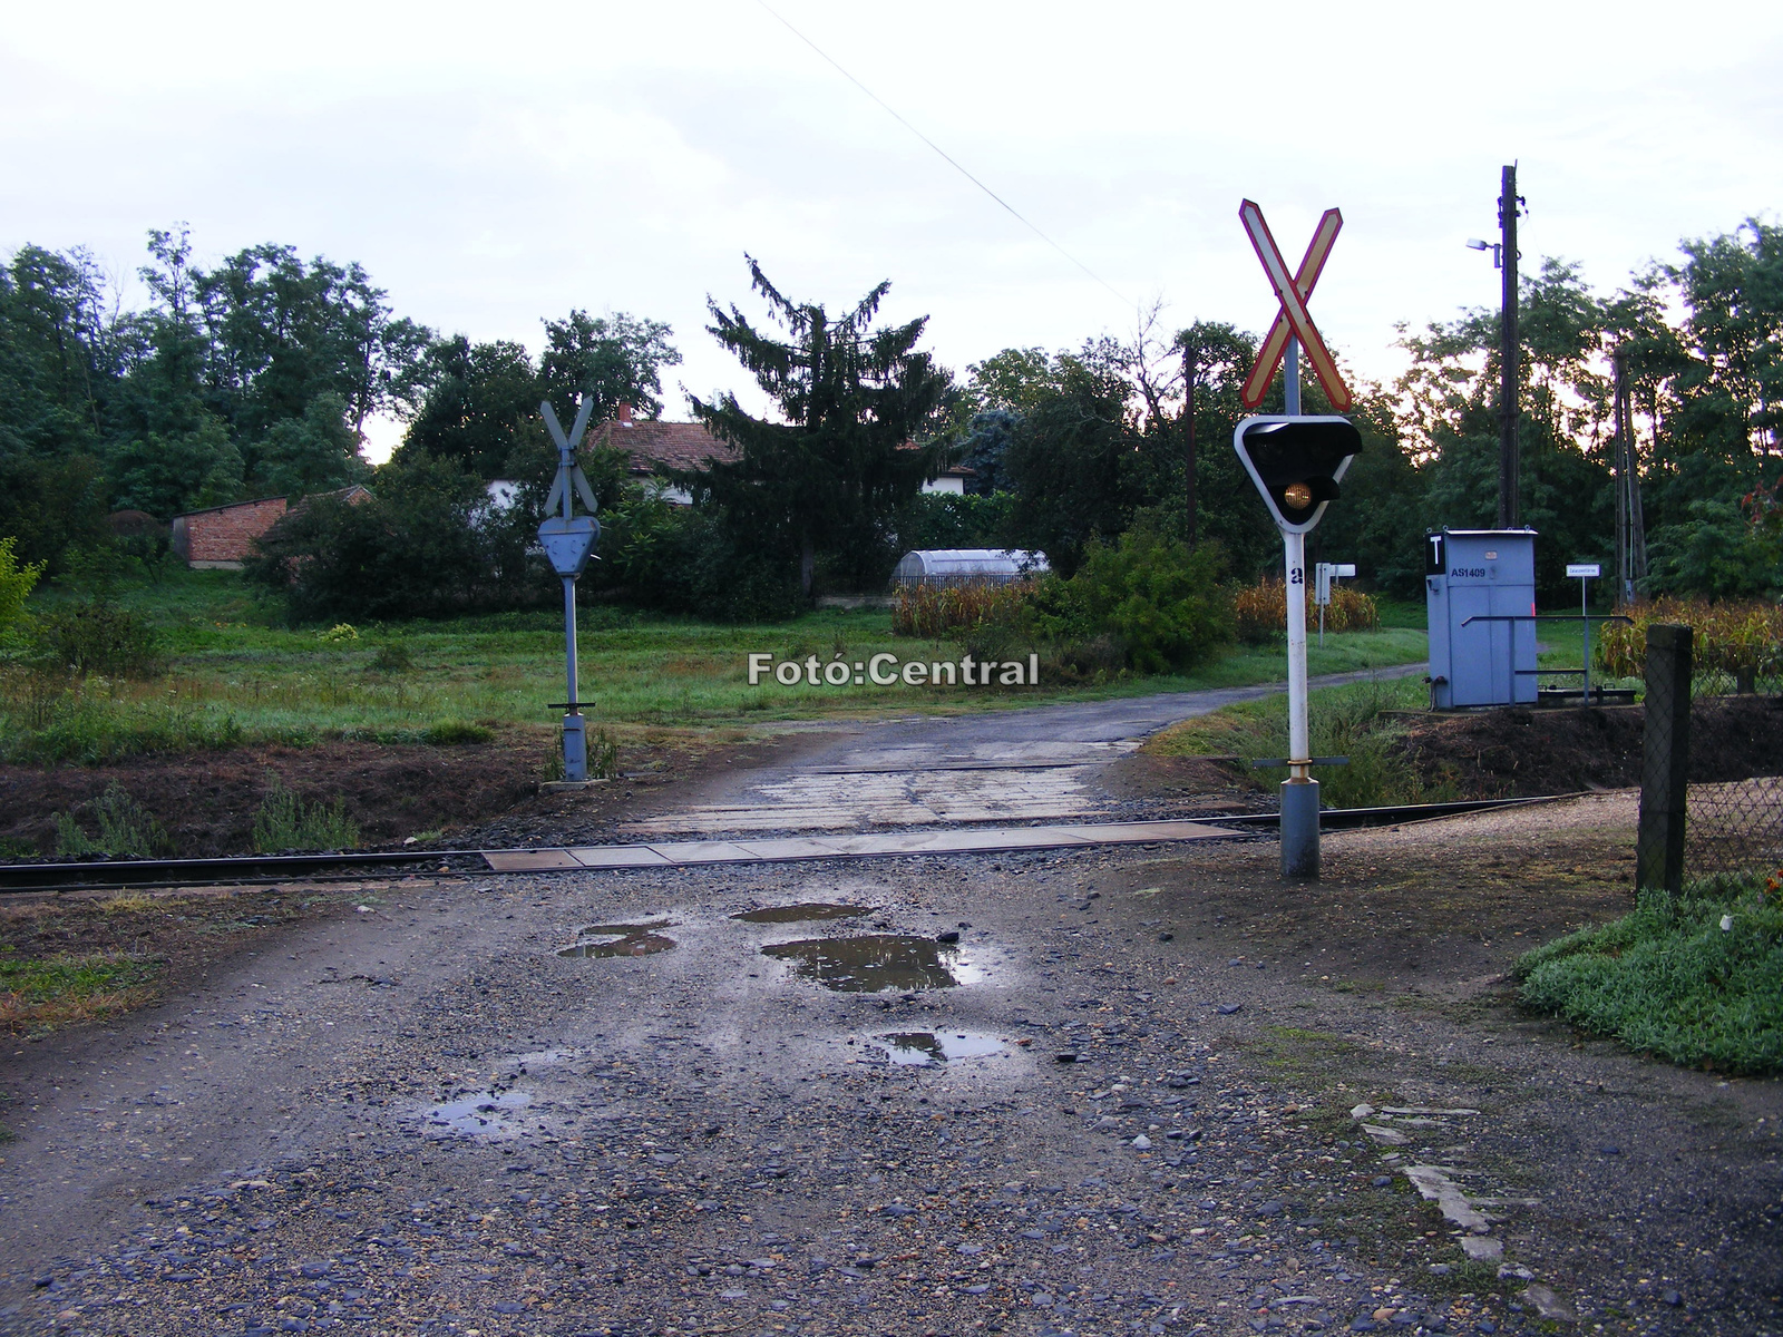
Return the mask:
<svg viewBox="0 0 1783 1337"><path fill-rule="evenodd" d="M1523 799L1640 784L1642 706L1505 708L1410 720L1398 751L1435 788ZM1713 697L1690 713L1690 779L1772 775L1783 765L1783 697Z"/></svg>

